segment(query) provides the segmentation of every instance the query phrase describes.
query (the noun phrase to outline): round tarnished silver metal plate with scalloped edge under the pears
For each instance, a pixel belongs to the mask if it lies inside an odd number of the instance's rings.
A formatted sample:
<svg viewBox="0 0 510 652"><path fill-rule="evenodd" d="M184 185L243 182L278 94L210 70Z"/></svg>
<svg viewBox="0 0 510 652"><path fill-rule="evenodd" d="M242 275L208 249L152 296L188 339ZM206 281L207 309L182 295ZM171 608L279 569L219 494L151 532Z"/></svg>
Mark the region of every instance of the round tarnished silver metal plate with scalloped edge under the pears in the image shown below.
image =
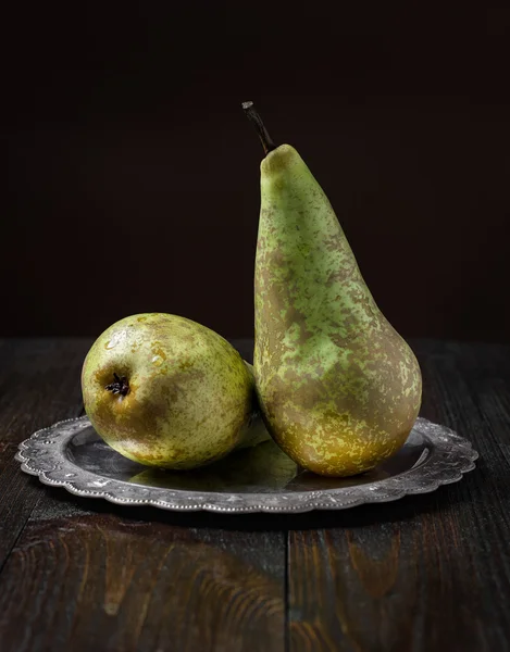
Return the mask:
<svg viewBox="0 0 510 652"><path fill-rule="evenodd" d="M38 430L16 460L46 485L127 505L190 512L309 512L388 502L457 482L478 454L456 432L419 418L403 448L374 471L324 478L294 464L273 441L188 472L149 468L108 447L86 416Z"/></svg>

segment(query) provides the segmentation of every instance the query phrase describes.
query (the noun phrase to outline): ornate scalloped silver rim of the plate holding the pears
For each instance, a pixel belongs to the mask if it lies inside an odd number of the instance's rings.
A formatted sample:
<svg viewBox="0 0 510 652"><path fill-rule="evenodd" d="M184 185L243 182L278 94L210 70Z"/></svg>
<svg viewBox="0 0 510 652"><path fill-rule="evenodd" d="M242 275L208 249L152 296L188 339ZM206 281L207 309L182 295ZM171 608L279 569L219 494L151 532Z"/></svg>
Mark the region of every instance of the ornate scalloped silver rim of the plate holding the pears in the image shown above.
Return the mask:
<svg viewBox="0 0 510 652"><path fill-rule="evenodd" d="M86 498L102 498L122 505L151 505L191 512L310 512L345 510L363 503L389 502L406 494L427 493L440 485L457 482L475 467L478 453L471 443L445 426L418 418L413 431L424 441L420 460L408 471L365 485L318 491L276 493L222 493L184 491L134 485L109 478L75 464L66 454L71 440L90 426L86 416L59 422L34 432L20 447L15 459L22 471L38 476L45 485L64 487Z"/></svg>

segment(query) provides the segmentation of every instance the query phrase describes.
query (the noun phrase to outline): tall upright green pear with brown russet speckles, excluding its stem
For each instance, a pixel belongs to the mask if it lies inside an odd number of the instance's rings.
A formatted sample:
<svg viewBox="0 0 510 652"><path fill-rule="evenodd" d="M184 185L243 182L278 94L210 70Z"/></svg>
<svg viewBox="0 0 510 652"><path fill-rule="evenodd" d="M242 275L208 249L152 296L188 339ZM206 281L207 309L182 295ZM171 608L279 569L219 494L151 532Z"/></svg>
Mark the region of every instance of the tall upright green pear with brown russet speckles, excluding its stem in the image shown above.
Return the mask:
<svg viewBox="0 0 510 652"><path fill-rule="evenodd" d="M325 476L356 475L393 455L420 410L418 361L288 145L261 164L254 375L275 441Z"/></svg>

